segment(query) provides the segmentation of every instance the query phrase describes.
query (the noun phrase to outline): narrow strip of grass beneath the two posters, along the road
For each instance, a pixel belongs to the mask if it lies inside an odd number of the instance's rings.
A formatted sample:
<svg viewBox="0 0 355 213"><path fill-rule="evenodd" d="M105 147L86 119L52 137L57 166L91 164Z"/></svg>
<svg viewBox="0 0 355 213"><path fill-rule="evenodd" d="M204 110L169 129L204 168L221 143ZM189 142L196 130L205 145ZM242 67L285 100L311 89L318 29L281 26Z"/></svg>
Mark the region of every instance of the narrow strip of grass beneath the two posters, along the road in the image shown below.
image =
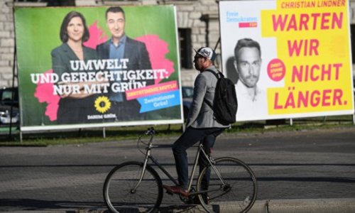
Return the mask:
<svg viewBox="0 0 355 213"><path fill-rule="evenodd" d="M6 131L2 131L0 146L50 146L134 140L138 138L138 135L146 131L148 127L150 126L107 127L105 129L105 138L102 128L23 133L22 142L18 131L11 130L13 132L11 137L6 134ZM231 126L231 129L226 129L224 133L263 133L266 131L302 131L343 127L354 127L352 115L292 119L292 121L290 119L278 119L237 122ZM154 128L159 133L156 138L180 136L182 133L181 124L157 125Z"/></svg>

